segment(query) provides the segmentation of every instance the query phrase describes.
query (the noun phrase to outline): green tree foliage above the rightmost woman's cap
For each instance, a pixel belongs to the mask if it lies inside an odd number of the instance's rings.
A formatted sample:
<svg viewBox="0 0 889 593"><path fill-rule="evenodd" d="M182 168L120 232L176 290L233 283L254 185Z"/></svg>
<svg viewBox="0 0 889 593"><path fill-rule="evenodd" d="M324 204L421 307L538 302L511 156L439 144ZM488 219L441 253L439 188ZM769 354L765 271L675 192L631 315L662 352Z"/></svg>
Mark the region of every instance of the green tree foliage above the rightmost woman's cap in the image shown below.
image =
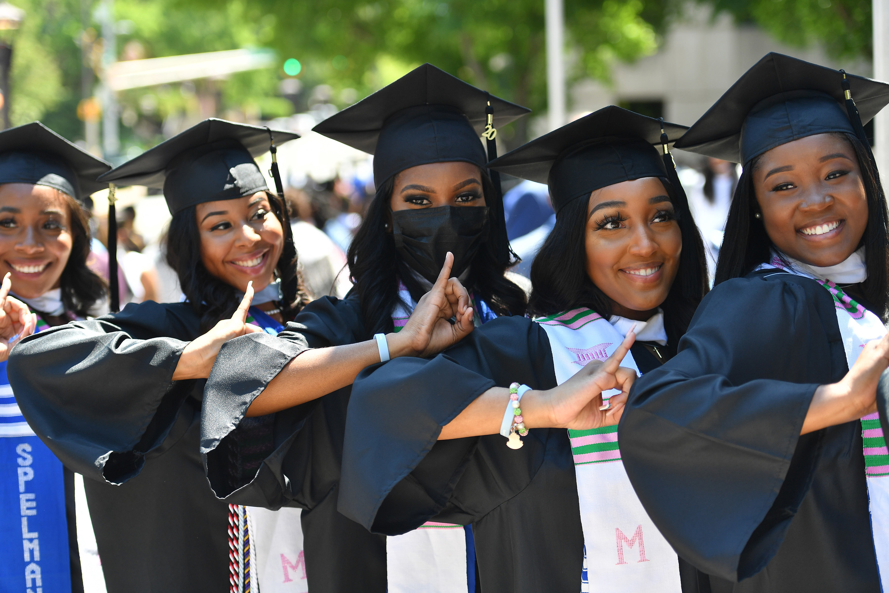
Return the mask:
<svg viewBox="0 0 889 593"><path fill-rule="evenodd" d="M740 22L755 22L786 44L823 44L837 58L873 54L872 0L702 1Z"/></svg>

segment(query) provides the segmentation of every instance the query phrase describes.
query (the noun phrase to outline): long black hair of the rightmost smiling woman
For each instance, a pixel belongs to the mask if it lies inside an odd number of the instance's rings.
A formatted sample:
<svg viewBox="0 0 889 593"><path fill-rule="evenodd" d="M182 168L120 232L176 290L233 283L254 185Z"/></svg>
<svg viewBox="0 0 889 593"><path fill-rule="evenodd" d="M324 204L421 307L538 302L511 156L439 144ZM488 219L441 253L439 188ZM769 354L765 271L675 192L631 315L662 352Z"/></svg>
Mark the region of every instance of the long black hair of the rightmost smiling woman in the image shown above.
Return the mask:
<svg viewBox="0 0 889 593"><path fill-rule="evenodd" d="M861 283L861 290L877 313L886 321L886 306L889 304L889 210L879 190L879 174L874 167L867 148L856 136L845 132L832 132L848 142L855 151L861 168L861 180L868 199L868 226L861 236L865 249L865 264L868 279ZM765 232L765 225L754 214L759 212L753 174L757 171L761 156L750 160L738 188L734 192L732 207L725 221L725 238L719 250L717 273L714 285L730 278L748 275L759 264L767 262L774 248L772 239ZM861 246L859 245L859 246Z"/></svg>

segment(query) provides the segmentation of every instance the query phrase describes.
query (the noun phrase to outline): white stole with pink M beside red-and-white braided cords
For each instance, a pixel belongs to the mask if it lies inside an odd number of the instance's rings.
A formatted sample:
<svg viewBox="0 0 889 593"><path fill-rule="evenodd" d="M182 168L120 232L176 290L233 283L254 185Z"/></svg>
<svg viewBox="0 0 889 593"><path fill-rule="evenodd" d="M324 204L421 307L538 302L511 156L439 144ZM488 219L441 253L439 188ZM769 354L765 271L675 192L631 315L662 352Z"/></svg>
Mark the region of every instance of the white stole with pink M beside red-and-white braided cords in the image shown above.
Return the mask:
<svg viewBox="0 0 889 593"><path fill-rule="evenodd" d="M271 335L284 331L257 307L247 311L247 323ZM260 581L263 593L308 592L300 512L228 505L229 593L255 593Z"/></svg>

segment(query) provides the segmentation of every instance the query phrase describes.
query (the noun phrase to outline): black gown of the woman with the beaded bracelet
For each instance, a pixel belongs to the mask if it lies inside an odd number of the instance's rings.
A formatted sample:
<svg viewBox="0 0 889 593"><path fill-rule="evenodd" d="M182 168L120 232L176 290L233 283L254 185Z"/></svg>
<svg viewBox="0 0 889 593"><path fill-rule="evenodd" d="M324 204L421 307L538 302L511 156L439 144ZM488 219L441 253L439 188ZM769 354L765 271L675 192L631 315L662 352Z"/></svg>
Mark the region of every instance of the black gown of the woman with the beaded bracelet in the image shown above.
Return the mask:
<svg viewBox="0 0 889 593"><path fill-rule="evenodd" d="M632 352L643 373L660 365L642 343ZM365 369L348 407L340 511L386 534L473 522L485 593L576 593L583 532L568 431L532 429L518 450L499 434L436 440L487 389L513 381L557 385L549 337L525 317L495 319L431 359ZM696 571L680 561L680 574L697 593Z"/></svg>

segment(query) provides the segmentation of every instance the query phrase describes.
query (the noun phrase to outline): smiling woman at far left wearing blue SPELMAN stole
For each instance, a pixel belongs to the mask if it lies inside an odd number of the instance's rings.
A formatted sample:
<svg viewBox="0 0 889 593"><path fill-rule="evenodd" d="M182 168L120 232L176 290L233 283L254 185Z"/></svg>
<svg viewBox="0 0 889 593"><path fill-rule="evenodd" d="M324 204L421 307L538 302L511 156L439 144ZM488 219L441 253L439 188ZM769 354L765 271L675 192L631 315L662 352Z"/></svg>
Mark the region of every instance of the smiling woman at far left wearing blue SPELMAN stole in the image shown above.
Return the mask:
<svg viewBox="0 0 889 593"><path fill-rule="evenodd" d="M104 301L105 284L86 265L90 234L77 200L103 188L95 179L111 167L39 122L0 132L0 146L0 504L8 511L0 589L83 591L75 476L22 417L6 358L21 336L83 318ZM36 314L6 297L11 285Z"/></svg>

